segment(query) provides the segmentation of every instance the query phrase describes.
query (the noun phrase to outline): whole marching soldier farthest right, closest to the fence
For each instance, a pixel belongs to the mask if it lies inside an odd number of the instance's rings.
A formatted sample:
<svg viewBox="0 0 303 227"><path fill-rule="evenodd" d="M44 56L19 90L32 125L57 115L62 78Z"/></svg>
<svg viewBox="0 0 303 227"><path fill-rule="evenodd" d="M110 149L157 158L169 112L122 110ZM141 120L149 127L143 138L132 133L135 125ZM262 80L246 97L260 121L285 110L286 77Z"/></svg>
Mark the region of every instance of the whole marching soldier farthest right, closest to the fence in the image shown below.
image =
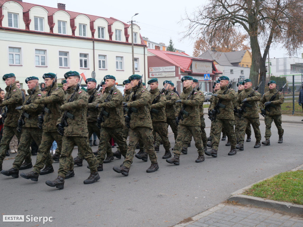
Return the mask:
<svg viewBox="0 0 303 227"><path fill-rule="evenodd" d="M272 121L275 122L275 125L278 129L279 140L278 143L283 143L283 133L284 130L282 129L282 116L281 116L281 104L284 102L284 95L279 92L275 99L269 101L271 97L278 92L276 89L276 82L269 81L268 82L269 91L266 92L261 100L260 100L260 110L263 114L265 114L264 122L265 122L265 141L262 142L264 145L270 145L270 136L271 136L271 123ZM264 110L265 107L268 107L270 111Z"/></svg>

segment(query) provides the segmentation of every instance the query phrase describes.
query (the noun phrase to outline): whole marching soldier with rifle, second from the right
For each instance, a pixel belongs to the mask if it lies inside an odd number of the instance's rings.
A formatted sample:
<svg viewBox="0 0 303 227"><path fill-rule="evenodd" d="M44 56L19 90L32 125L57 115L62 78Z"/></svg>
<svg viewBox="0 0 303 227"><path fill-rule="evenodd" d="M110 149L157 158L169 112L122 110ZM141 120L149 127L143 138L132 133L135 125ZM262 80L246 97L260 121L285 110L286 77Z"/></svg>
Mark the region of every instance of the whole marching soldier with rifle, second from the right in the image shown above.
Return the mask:
<svg viewBox="0 0 303 227"><path fill-rule="evenodd" d="M247 101L245 106L246 112L242 111L241 118L239 120L239 144L237 145L237 149L244 150L244 137L245 130L248 123L251 123L252 128L255 132L256 143L254 148L258 148L261 146L261 132L259 129L259 114L258 114L258 104L257 102L261 99L261 94L258 91L255 91L252 97L248 97L251 94L251 80L246 79L242 82L244 85L244 91L242 91L236 100L236 108L239 110L243 102Z"/></svg>

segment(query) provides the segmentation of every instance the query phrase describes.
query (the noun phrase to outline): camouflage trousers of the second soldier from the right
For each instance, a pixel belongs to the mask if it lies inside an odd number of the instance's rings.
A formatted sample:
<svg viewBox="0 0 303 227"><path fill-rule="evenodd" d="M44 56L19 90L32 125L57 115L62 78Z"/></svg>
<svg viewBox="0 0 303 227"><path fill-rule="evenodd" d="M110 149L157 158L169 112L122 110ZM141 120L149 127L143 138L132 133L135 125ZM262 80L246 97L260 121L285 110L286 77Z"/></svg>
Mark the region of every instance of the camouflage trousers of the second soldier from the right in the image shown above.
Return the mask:
<svg viewBox="0 0 303 227"><path fill-rule="evenodd" d="M244 143L245 130L248 124L251 123L252 128L255 132L256 142L261 141L261 132L259 129L260 121L258 117L241 117L239 121L239 143Z"/></svg>

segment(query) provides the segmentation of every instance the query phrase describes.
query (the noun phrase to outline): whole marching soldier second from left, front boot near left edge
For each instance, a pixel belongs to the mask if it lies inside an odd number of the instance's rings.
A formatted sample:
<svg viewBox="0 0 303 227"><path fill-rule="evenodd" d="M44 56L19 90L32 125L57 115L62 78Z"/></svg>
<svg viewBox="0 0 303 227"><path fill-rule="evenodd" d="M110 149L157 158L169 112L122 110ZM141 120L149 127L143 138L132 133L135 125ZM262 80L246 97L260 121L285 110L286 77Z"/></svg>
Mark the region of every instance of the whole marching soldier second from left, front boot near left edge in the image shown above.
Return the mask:
<svg viewBox="0 0 303 227"><path fill-rule="evenodd" d="M36 144L40 146L42 136L42 130L38 128L38 115L41 113L42 105L35 104L35 100L41 99L44 95L39 89L38 77L27 77L25 79L25 83L28 86L27 92L29 95L25 97L23 106L15 108L16 110L21 110L23 112L18 120L17 127L18 130L21 130L18 155L16 156L11 169L1 171L1 173L5 176L12 176L15 178L19 177L19 168L25 158L30 155L28 151L32 144L32 140L34 140ZM48 161L48 165L51 166L51 159L48 159ZM32 165L32 162L30 162L30 165Z"/></svg>

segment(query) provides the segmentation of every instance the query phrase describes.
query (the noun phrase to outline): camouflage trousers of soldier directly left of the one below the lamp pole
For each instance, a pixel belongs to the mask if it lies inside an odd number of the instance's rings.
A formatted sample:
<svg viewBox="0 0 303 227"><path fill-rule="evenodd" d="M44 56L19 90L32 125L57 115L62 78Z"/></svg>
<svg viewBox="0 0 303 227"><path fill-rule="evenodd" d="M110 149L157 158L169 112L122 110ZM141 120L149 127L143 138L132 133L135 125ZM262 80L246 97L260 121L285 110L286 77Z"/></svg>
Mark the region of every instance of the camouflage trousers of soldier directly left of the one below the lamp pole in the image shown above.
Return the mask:
<svg viewBox="0 0 303 227"><path fill-rule="evenodd" d="M122 136L122 128L103 128L100 129L100 143L98 146L98 163L103 164L105 154L107 150L108 141L111 137L115 140L119 146L120 153L125 157L127 151L127 143L125 138Z"/></svg>

